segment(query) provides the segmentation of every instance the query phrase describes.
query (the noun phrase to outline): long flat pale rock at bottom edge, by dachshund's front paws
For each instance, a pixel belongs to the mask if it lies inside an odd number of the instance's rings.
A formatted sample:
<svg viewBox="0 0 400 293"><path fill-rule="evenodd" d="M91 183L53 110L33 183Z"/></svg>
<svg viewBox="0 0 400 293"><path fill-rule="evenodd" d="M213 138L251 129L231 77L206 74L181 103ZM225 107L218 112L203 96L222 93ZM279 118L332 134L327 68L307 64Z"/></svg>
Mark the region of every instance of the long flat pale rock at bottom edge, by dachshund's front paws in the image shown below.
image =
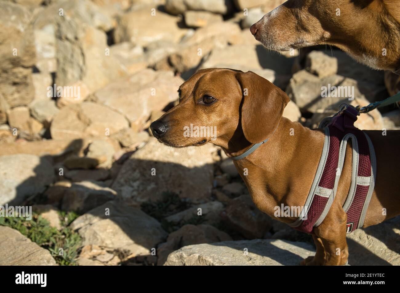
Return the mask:
<svg viewBox="0 0 400 293"><path fill-rule="evenodd" d="M298 265L314 247L283 240L240 240L188 245L172 252L165 265Z"/></svg>

